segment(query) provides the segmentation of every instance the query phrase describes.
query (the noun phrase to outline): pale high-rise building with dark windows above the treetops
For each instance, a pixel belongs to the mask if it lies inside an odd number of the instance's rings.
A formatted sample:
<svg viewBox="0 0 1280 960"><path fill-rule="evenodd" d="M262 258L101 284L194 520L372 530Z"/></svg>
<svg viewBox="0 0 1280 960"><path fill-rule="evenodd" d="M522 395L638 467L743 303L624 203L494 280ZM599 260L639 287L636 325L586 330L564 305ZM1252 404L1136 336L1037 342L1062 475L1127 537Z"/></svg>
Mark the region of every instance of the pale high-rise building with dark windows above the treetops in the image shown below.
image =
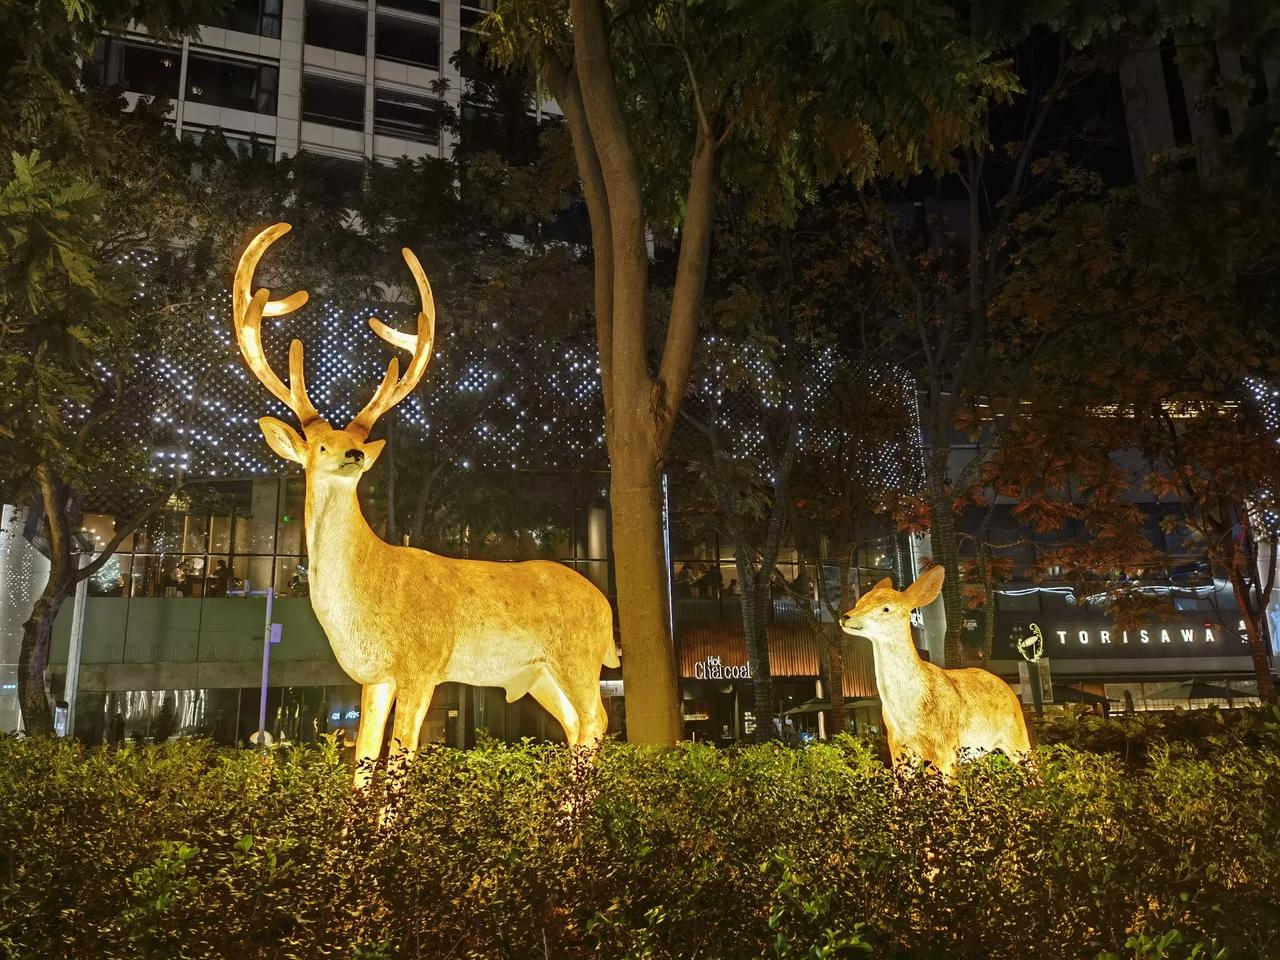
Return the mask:
<svg viewBox="0 0 1280 960"><path fill-rule="evenodd" d="M279 159L308 154L335 188L364 160L449 156L443 108L460 110L466 51L488 0L234 0L180 45L104 37L104 83L164 96L174 128L219 128ZM541 108L539 108L541 109Z"/></svg>

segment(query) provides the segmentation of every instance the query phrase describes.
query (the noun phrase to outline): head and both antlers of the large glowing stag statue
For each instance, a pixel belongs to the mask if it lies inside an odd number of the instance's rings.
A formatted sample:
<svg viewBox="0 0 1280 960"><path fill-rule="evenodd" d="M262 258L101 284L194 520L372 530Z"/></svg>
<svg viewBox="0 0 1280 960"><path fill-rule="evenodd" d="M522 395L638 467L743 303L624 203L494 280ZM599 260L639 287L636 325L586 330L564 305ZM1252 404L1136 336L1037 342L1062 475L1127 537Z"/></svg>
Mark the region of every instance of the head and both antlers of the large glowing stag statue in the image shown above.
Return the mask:
<svg viewBox="0 0 1280 960"><path fill-rule="evenodd" d="M250 293L257 261L269 246L288 232L289 224L287 223L268 227L250 241L241 256L232 288L236 343L239 344L244 362L248 364L253 376L276 399L293 411L298 419L298 426L302 428L300 434L283 420L275 417L259 420L257 424L271 449L285 460L301 463L312 480L324 477L332 483L355 486L360 476L378 460L378 454L383 452L385 444L385 440L370 440L369 431L372 430L378 417L404 399L417 387L422 374L426 372L428 362L431 360L431 346L435 342L435 301L431 297L431 285L426 282L426 274L422 273L417 257L408 248L401 251L404 255L404 262L408 264L410 273L413 274L419 298L422 302L422 310L417 315L417 333L407 334L393 330L376 317L370 317L369 325L374 328L374 333L393 347L408 351L411 360L404 366L404 375L401 376L399 360L392 357L387 365L387 375L365 408L346 428L334 428L316 412L307 397L306 380L302 376L302 343L293 340L289 344L288 387L271 370L270 364L266 362L266 355L262 352L262 317L292 314L307 302L306 291L291 293L283 300L271 300L271 294L266 289Z"/></svg>

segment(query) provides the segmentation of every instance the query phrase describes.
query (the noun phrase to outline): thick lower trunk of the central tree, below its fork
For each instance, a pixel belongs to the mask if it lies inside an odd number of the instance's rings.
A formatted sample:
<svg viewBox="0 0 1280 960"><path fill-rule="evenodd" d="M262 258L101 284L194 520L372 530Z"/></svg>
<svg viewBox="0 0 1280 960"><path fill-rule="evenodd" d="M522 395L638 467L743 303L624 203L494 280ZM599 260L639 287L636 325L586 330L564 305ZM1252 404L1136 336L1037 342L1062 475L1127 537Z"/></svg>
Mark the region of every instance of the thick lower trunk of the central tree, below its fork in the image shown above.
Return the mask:
<svg viewBox="0 0 1280 960"><path fill-rule="evenodd" d="M657 457L637 457L632 452L632 456L611 456L611 461L613 572L623 641L627 740L675 744L681 739L682 724L667 616L669 584Z"/></svg>

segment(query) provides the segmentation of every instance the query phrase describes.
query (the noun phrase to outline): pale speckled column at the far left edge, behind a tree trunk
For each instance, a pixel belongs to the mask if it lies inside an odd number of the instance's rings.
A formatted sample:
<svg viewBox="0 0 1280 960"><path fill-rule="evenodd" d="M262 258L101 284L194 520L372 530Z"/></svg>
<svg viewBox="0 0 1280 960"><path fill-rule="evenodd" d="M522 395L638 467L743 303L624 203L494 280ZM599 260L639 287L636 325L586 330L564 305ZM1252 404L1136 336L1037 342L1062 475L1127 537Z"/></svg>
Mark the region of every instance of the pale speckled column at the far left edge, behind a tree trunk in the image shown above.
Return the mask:
<svg viewBox="0 0 1280 960"><path fill-rule="evenodd" d="M22 726L18 709L22 625L49 581L49 558L23 538L26 524L23 507L6 503L0 508L0 732L4 733Z"/></svg>

